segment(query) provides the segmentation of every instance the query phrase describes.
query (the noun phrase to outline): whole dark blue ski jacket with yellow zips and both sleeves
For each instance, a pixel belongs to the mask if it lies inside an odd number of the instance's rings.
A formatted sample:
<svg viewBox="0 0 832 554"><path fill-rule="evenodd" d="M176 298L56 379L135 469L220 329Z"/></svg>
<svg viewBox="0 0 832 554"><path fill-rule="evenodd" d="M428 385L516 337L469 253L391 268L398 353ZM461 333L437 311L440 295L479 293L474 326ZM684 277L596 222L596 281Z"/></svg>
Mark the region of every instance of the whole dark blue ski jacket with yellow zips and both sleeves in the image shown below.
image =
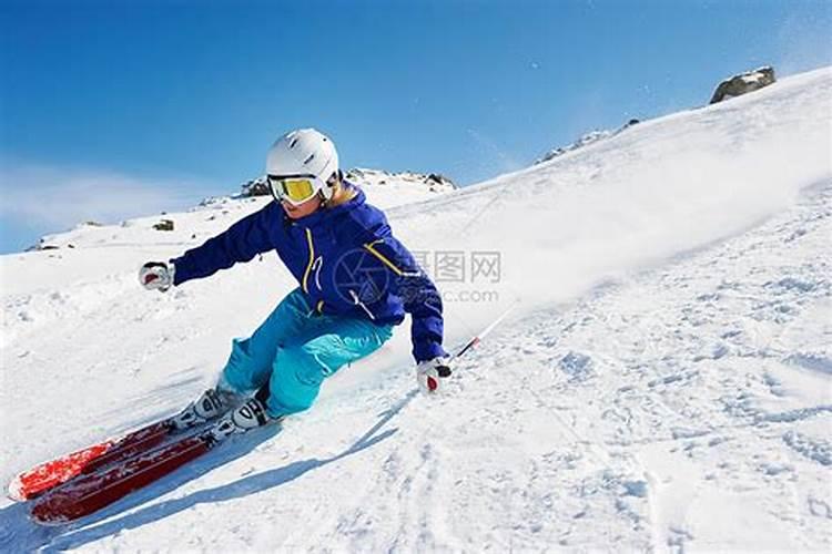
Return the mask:
<svg viewBox="0 0 832 554"><path fill-rule="evenodd" d="M436 287L393 236L382 211L356 191L349 202L298 219L287 217L278 203L268 203L172 259L174 285L276 250L317 312L368 318L379 326L398 325L410 314L416 361L446 356Z"/></svg>

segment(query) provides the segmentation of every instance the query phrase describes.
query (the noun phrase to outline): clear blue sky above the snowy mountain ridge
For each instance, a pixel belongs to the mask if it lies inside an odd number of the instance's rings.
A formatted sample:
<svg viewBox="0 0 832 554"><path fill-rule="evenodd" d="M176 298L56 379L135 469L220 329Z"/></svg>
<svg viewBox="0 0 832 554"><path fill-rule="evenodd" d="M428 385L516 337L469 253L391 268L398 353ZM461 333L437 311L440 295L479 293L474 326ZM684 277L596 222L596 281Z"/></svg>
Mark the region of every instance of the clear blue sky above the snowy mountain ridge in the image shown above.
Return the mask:
<svg viewBox="0 0 832 554"><path fill-rule="evenodd" d="M0 253L227 194L282 132L470 184L719 80L832 63L826 0L0 0Z"/></svg>

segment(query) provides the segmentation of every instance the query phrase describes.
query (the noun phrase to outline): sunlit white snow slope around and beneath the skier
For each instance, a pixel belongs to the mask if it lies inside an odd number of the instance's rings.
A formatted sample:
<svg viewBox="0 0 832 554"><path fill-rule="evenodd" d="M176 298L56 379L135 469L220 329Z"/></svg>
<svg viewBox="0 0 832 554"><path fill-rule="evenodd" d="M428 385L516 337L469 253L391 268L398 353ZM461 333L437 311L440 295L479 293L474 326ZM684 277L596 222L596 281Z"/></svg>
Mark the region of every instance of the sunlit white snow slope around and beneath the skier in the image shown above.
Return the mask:
<svg viewBox="0 0 832 554"><path fill-rule="evenodd" d="M0 548L828 551L830 99L823 69L392 207L428 261L500 254L496 283L439 283L449 345L516 306L443 396L413 393L403 326L278 434L89 520L0 501ZM156 295L135 270L258 202L0 258L3 481L211 383L286 271L270 255Z"/></svg>

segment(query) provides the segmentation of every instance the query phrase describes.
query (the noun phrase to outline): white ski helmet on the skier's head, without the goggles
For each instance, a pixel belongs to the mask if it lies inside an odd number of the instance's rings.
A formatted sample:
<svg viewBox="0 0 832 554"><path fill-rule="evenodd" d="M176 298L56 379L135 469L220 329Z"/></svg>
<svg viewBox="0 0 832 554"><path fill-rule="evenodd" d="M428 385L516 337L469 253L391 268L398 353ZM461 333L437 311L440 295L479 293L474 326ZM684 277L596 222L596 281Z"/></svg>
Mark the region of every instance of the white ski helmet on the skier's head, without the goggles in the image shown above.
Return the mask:
<svg viewBox="0 0 832 554"><path fill-rule="evenodd" d="M338 153L328 136L314 129L298 129L281 136L268 150L267 177L312 176L325 199L332 198L327 182L338 171Z"/></svg>

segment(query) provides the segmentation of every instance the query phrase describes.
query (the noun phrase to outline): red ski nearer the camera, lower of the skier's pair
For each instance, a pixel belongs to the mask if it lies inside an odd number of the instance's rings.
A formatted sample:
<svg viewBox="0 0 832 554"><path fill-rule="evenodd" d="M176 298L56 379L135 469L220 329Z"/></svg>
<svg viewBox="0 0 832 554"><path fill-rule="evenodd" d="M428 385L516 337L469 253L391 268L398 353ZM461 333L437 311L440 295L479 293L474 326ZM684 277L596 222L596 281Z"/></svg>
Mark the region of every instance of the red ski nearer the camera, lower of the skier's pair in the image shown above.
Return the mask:
<svg viewBox="0 0 832 554"><path fill-rule="evenodd" d="M215 444L210 433L190 435L109 469L78 476L38 499L32 506L32 519L54 525L89 515L172 473Z"/></svg>

